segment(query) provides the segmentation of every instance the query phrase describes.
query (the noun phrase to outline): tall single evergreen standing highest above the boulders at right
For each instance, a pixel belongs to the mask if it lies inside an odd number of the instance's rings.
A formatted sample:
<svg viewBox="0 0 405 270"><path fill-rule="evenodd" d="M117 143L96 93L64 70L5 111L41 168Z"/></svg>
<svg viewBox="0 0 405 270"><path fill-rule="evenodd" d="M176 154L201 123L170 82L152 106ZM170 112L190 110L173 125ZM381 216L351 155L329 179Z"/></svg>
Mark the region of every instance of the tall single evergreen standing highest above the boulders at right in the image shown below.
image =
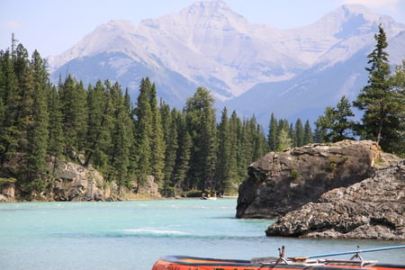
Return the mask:
<svg viewBox="0 0 405 270"><path fill-rule="evenodd" d="M388 42L380 24L378 34L374 35L376 45L368 55L368 84L357 96L354 105L364 111L359 135L365 139L374 139L386 146L384 132L390 129L390 115L396 114L396 101L390 87L391 68L386 48Z"/></svg>

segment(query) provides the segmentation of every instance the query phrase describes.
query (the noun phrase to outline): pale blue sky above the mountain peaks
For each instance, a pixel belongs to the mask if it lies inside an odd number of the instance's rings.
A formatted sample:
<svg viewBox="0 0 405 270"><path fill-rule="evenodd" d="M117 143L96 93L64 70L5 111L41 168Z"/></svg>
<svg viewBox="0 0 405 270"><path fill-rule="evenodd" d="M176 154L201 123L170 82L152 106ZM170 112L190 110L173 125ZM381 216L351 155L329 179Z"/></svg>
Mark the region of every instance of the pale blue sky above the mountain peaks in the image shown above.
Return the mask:
<svg viewBox="0 0 405 270"><path fill-rule="evenodd" d="M69 49L100 24L143 19L179 12L198 0L1 0L0 49L7 49L14 32L29 50L42 57ZM374 12L405 23L405 0L224 0L249 23L288 29L314 23L342 4L365 4Z"/></svg>

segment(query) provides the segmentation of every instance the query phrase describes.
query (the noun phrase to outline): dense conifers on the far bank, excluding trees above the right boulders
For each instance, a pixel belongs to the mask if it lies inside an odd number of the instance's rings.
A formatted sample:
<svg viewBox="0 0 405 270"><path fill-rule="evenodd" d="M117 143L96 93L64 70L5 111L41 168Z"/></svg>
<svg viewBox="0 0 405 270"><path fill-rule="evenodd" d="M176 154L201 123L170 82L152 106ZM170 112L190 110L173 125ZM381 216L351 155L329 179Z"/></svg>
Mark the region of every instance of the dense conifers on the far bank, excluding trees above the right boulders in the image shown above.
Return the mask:
<svg viewBox="0 0 405 270"><path fill-rule="evenodd" d="M300 120L293 127L272 115L266 138L254 116L240 119L224 108L217 123L213 104L210 91L199 87L182 111L172 109L157 101L148 78L135 103L108 80L85 87L67 76L53 85L39 52L29 58L22 44L13 44L0 52L0 178L16 179L25 196L42 193L54 180L55 163L69 160L135 192L154 175L167 196L229 194L269 149L312 141L308 121L304 129Z"/></svg>

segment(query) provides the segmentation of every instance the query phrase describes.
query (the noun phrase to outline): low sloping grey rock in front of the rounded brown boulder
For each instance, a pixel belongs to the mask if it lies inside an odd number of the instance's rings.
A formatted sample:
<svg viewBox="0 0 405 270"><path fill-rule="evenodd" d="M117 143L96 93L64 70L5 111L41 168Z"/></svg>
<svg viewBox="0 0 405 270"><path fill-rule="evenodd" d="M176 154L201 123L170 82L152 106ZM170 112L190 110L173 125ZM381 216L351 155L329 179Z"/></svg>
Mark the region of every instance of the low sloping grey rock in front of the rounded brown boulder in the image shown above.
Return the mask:
<svg viewBox="0 0 405 270"><path fill-rule="evenodd" d="M267 236L405 239L405 161L287 213Z"/></svg>

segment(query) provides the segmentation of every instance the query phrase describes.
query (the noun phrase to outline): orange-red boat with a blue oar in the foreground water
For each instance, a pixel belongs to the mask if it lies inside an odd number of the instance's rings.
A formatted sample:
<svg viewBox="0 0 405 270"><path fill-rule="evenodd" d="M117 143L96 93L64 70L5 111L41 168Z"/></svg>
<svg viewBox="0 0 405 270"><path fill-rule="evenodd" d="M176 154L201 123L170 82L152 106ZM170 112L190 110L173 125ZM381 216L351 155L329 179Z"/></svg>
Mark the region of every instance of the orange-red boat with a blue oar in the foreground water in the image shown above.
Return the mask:
<svg viewBox="0 0 405 270"><path fill-rule="evenodd" d="M404 248L383 247L374 248L373 251ZM327 254L311 257L284 258L284 247L280 251L280 257L258 257L251 260L240 259L217 259L187 256L166 256L157 260L152 270L405 270L405 265L381 264L377 261L364 260L360 253L370 252L372 249L348 251L344 253ZM353 254L349 260L331 260L319 257L330 257L345 254Z"/></svg>

